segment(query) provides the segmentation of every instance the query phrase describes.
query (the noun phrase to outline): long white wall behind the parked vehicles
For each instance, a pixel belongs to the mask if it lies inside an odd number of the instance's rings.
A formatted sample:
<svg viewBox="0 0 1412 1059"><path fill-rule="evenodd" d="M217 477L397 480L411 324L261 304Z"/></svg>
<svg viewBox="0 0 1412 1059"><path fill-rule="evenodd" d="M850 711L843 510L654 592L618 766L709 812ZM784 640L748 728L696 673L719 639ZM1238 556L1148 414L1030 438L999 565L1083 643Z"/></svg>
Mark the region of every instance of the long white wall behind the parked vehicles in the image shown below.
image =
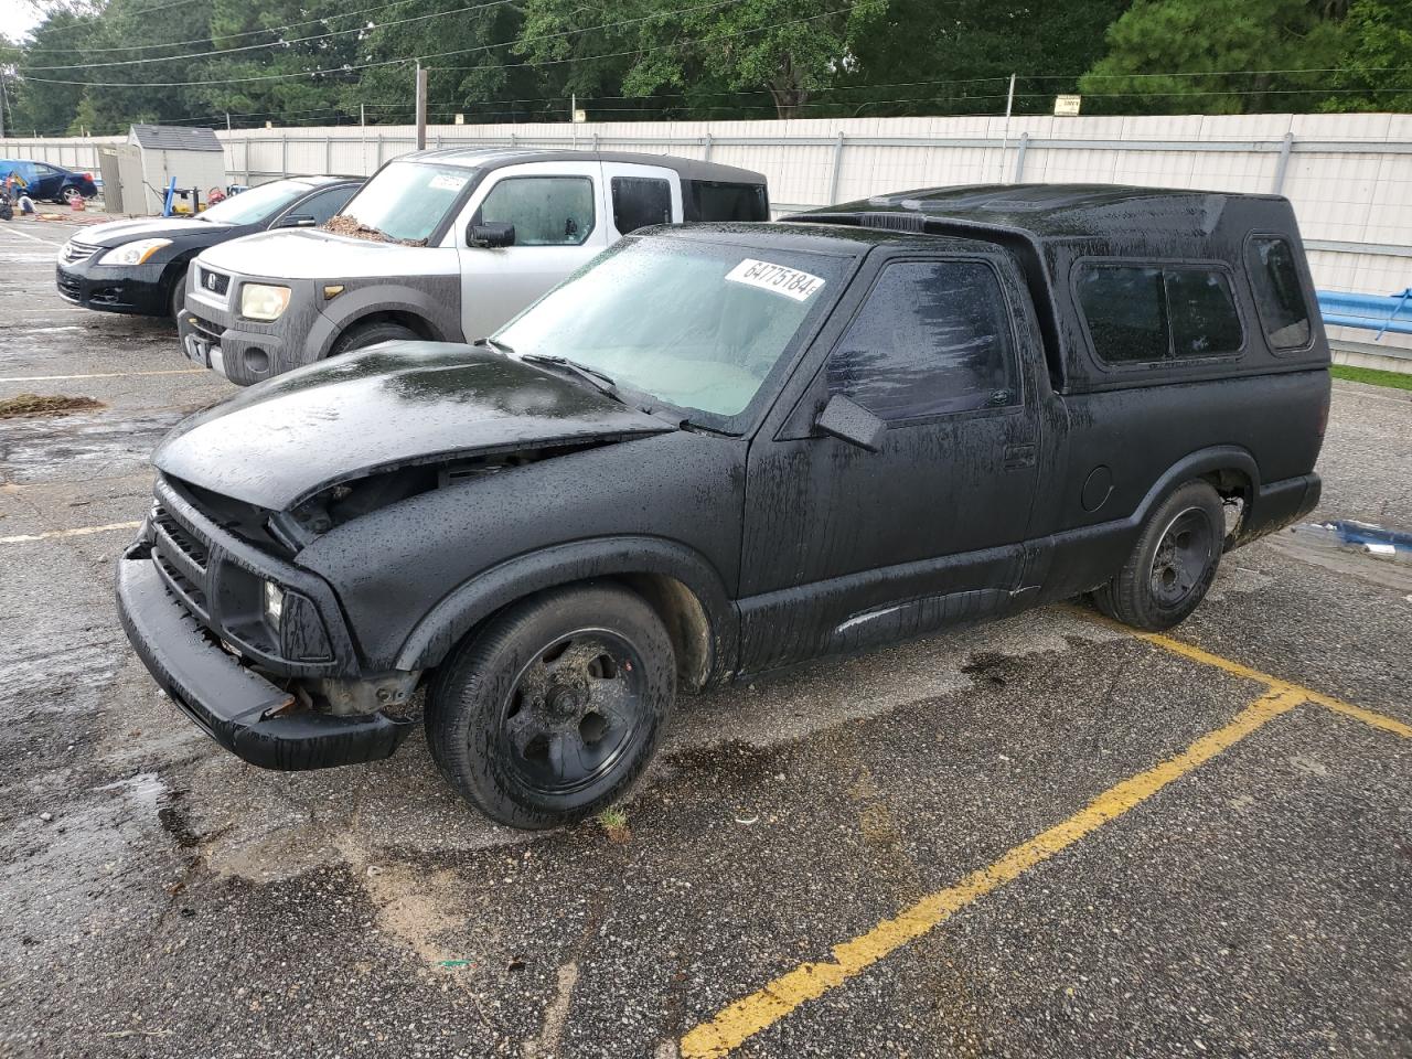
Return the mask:
<svg viewBox="0 0 1412 1059"><path fill-rule="evenodd" d="M369 174L414 145L408 126L217 136L230 178L250 184L282 174ZM0 157L93 168L96 143L3 140ZM1008 127L1000 117L863 117L428 128L429 147L462 144L709 155L764 172L779 210L1017 178L1278 191L1295 205L1320 288L1392 294L1412 285L1412 114L1019 117ZM1371 339L1337 328L1332 336ZM1412 357L1412 336L1385 336L1378 349Z"/></svg>

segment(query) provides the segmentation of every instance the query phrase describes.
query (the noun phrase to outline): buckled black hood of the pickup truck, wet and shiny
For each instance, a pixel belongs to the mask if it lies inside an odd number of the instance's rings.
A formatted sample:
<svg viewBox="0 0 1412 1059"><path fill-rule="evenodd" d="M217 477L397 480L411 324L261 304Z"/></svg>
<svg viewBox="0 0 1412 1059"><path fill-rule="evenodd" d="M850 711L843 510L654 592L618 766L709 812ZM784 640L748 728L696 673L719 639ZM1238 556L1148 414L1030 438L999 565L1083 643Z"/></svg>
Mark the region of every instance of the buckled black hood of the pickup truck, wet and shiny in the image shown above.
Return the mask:
<svg viewBox="0 0 1412 1059"><path fill-rule="evenodd" d="M162 441L152 463L282 511L398 465L669 429L486 349L391 342L277 376L198 412Z"/></svg>

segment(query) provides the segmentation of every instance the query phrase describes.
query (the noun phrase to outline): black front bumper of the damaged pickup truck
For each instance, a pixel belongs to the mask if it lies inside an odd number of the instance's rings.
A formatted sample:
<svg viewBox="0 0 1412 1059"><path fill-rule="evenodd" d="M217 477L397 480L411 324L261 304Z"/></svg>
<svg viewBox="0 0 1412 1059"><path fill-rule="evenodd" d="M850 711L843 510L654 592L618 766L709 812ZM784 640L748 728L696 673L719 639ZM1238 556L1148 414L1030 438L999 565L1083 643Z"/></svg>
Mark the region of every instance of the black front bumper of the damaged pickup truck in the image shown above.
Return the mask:
<svg viewBox="0 0 1412 1059"><path fill-rule="evenodd" d="M117 563L117 613L172 702L253 765L299 771L380 761L397 751L415 723L380 713L281 712L291 709L292 695L212 642L145 555L130 552Z"/></svg>

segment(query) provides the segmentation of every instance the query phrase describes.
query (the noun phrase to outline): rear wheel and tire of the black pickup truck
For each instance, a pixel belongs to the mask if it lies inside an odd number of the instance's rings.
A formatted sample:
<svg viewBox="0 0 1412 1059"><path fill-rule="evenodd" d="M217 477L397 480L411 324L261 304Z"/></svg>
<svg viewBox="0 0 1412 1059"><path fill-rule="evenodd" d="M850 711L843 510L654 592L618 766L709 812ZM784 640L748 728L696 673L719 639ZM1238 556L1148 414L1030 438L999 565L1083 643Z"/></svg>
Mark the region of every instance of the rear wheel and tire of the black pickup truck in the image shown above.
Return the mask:
<svg viewBox="0 0 1412 1059"><path fill-rule="evenodd" d="M1125 626L1172 628L1206 599L1224 538L1221 498L1206 481L1187 481L1148 517L1123 569L1093 602Z"/></svg>

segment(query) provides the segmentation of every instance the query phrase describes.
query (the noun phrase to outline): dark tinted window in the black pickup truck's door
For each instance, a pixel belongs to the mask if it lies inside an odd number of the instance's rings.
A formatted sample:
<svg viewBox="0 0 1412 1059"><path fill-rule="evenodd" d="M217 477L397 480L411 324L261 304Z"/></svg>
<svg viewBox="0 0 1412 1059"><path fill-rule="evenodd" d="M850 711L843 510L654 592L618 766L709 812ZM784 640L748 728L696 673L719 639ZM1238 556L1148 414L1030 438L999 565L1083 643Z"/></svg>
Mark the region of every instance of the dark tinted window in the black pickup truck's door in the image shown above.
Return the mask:
<svg viewBox="0 0 1412 1059"><path fill-rule="evenodd" d="M1017 404L1014 339L979 261L884 268L829 357L829 391L897 421Z"/></svg>

